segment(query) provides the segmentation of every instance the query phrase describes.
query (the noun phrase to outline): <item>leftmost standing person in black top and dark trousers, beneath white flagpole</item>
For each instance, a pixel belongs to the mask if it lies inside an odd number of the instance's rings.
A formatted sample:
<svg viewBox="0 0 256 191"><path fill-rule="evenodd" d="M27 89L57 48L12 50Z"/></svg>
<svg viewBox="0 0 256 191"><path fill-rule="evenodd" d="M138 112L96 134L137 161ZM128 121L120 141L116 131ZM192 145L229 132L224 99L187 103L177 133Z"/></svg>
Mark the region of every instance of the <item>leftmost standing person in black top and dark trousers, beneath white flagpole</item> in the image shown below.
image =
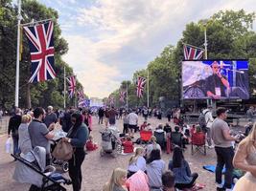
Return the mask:
<svg viewBox="0 0 256 191"><path fill-rule="evenodd" d="M9 120L8 125L8 138L11 138L12 133L12 140L13 140L13 155L19 155L20 150L18 148L18 127L21 123L21 109L16 108L15 114Z"/></svg>

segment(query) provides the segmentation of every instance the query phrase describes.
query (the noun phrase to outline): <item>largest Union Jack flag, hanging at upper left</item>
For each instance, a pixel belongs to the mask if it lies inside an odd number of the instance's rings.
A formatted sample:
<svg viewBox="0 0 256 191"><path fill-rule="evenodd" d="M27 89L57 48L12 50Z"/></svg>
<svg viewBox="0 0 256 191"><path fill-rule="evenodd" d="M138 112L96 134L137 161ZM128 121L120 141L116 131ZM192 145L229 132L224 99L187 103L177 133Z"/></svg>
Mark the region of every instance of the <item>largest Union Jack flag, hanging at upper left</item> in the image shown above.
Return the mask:
<svg viewBox="0 0 256 191"><path fill-rule="evenodd" d="M33 27L24 27L29 39L31 53L31 78L29 82L40 82L56 77L54 24L48 21Z"/></svg>

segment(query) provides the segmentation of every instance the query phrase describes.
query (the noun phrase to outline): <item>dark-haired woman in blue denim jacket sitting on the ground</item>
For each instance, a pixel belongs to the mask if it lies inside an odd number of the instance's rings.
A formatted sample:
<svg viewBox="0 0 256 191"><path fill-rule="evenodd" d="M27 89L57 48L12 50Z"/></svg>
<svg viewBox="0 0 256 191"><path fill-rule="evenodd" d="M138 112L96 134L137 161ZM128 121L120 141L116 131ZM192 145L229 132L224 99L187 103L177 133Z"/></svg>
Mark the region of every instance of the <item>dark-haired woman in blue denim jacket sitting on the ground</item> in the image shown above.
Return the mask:
<svg viewBox="0 0 256 191"><path fill-rule="evenodd" d="M198 173L191 174L188 162L184 159L182 149L175 146L173 160L169 162L169 169L175 174L175 187L178 189L191 188L198 179Z"/></svg>

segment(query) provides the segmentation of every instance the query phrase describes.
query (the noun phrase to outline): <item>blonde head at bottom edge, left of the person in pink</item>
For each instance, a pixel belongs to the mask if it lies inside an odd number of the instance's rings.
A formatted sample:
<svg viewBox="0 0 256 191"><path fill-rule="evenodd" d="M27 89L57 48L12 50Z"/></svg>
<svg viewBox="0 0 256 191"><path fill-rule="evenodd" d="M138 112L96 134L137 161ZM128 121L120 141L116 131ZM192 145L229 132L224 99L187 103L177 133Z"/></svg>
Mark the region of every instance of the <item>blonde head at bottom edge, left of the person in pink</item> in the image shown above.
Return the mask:
<svg viewBox="0 0 256 191"><path fill-rule="evenodd" d="M113 170L110 180L105 183L104 191L128 191L125 187L127 171L122 168Z"/></svg>

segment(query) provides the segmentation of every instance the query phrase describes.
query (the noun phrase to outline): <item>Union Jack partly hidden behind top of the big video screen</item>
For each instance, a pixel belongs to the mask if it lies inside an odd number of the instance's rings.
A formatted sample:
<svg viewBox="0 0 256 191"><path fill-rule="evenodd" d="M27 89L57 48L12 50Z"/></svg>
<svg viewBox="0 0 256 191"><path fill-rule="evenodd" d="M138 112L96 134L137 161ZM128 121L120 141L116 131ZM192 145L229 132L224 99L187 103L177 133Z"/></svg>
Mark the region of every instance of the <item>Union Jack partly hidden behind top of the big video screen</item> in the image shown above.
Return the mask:
<svg viewBox="0 0 256 191"><path fill-rule="evenodd" d="M196 47L193 47L191 45L186 45L186 44L183 45L183 51L184 51L185 60L189 60L189 59L198 60L198 59L201 59L202 55L203 55L203 52L204 52L203 49L196 48Z"/></svg>

